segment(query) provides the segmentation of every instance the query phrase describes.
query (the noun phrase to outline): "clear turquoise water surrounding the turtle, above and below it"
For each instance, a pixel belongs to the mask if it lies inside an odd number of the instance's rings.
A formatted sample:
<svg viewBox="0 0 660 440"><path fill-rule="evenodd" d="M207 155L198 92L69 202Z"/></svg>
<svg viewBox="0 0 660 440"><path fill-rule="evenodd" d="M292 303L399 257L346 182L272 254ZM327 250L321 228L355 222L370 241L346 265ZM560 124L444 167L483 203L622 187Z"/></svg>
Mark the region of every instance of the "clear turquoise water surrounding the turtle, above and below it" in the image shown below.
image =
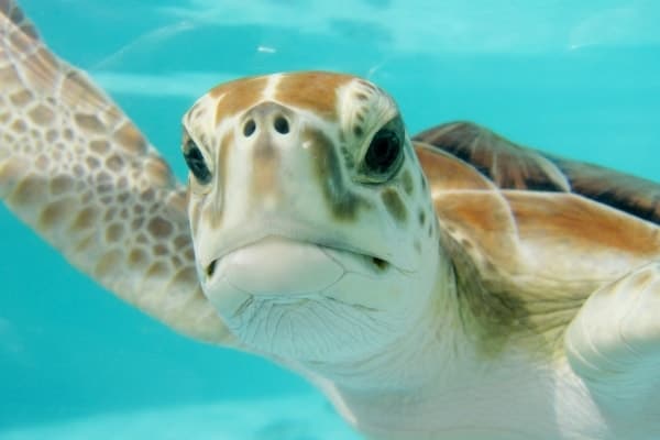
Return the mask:
<svg viewBox="0 0 660 440"><path fill-rule="evenodd" d="M574 3L22 6L179 177L179 118L208 88L252 74L331 69L389 90L411 132L470 119L660 180L660 4ZM3 208L0 239L0 439L351 437L300 378L172 333L72 270Z"/></svg>

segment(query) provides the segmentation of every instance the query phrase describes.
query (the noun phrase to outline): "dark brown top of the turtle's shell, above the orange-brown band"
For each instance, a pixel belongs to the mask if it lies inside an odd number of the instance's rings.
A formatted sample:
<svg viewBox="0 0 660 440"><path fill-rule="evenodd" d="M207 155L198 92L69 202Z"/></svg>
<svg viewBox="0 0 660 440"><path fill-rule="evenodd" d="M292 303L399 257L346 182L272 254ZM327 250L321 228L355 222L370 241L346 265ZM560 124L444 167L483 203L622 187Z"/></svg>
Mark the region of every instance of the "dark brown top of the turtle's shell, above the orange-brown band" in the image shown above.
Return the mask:
<svg viewBox="0 0 660 440"><path fill-rule="evenodd" d="M414 140L464 161L501 189L574 193L660 224L657 183L526 148L471 122L439 125Z"/></svg>

